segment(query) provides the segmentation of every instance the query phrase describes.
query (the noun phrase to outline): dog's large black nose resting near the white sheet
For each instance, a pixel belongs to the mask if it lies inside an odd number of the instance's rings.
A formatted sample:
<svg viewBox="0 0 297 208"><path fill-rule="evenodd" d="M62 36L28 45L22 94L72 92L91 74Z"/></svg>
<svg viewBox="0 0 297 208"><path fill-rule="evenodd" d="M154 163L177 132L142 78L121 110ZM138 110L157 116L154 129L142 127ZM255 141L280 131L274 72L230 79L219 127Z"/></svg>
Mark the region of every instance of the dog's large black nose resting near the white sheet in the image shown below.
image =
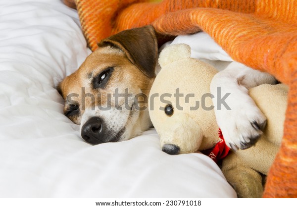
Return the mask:
<svg viewBox="0 0 297 208"><path fill-rule="evenodd" d="M91 117L82 127L81 136L92 145L104 143L103 124L99 117Z"/></svg>

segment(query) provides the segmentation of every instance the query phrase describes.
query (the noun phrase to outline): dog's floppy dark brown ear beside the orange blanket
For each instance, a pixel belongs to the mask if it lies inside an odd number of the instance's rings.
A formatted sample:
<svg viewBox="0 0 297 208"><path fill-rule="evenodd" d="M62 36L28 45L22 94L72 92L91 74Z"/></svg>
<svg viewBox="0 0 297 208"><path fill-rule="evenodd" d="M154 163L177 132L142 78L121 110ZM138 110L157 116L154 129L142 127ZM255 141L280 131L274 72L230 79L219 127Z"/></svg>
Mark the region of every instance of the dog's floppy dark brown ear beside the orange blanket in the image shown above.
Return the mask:
<svg viewBox="0 0 297 208"><path fill-rule="evenodd" d="M102 40L98 46L121 49L145 75L155 77L158 43L152 26L124 30Z"/></svg>

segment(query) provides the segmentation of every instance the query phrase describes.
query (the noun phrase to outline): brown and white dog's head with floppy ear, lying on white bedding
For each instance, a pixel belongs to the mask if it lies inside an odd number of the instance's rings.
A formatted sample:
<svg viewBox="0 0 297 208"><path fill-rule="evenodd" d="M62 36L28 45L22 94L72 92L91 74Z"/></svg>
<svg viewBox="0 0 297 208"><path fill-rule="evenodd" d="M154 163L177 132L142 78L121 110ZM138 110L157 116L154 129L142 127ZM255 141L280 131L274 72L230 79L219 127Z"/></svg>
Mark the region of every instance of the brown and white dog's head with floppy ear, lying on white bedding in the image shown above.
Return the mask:
<svg viewBox="0 0 297 208"><path fill-rule="evenodd" d="M155 77L157 40L151 26L120 32L98 44L59 85L64 114L88 143L130 139L151 126L147 99Z"/></svg>

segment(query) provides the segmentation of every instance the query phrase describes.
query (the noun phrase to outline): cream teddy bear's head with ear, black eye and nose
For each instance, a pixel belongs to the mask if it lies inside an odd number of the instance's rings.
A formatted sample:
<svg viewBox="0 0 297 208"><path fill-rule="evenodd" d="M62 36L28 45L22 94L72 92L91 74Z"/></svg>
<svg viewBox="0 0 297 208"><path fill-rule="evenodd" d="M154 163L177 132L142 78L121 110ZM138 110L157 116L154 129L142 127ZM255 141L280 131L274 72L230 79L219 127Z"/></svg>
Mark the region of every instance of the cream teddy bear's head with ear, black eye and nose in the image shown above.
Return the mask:
<svg viewBox="0 0 297 208"><path fill-rule="evenodd" d="M159 57L161 71L149 93L150 119L162 150L171 155L209 149L218 141L209 91L217 71L190 56L186 44L166 47Z"/></svg>

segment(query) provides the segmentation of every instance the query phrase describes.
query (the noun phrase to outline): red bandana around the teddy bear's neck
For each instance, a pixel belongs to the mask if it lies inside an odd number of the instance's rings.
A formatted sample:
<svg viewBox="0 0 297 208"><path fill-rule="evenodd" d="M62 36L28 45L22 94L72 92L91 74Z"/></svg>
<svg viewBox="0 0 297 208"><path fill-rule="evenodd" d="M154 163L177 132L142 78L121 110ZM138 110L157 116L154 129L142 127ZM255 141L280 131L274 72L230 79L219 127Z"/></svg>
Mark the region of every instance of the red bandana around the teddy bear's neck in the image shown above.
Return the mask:
<svg viewBox="0 0 297 208"><path fill-rule="evenodd" d="M213 149L204 150L202 153L209 156L213 161L218 163L219 160L226 157L229 153L230 148L226 145L221 129L219 129L220 141L214 146Z"/></svg>

